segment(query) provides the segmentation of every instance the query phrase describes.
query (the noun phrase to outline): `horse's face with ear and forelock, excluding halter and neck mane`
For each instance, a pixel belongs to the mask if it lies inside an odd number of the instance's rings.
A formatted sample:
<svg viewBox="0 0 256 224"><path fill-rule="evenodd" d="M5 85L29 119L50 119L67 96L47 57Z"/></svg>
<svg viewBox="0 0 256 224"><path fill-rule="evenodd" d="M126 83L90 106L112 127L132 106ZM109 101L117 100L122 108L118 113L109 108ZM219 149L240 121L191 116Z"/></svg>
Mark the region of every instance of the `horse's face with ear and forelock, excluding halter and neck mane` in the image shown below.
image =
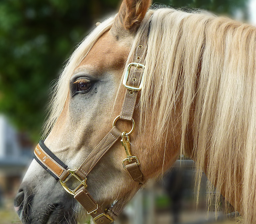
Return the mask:
<svg viewBox="0 0 256 224"><path fill-rule="evenodd" d="M70 169L80 166L120 113L125 94L120 81L137 32L152 14L147 13L149 6L149 0L123 1L118 14L99 24L76 49L60 77L46 126L46 129L51 126L51 130L44 144ZM145 15L146 22L142 25ZM138 123L139 117L137 108L133 115L135 122ZM120 130L129 129L129 125L128 121L117 123ZM153 163L152 159L148 161L157 146L149 147L151 140L138 127L131 137L132 152L140 157L146 182L161 169L162 154L152 156ZM124 195L133 195L139 187L123 168L125 157L121 143L115 143L87 177L87 190L103 210ZM23 223L76 223L85 214L59 181L35 160L14 203Z"/></svg>

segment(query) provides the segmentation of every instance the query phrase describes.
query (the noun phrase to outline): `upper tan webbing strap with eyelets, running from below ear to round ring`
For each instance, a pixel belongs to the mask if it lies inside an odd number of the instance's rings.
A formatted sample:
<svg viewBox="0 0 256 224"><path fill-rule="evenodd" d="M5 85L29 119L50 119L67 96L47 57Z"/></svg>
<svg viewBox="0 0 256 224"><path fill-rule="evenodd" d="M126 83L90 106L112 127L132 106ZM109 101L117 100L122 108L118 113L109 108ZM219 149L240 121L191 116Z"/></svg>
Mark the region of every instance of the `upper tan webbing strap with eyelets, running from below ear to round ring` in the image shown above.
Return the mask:
<svg viewBox="0 0 256 224"><path fill-rule="evenodd" d="M147 54L147 37L148 30L145 29L142 33L140 40L133 52L133 63L140 63L144 65L145 57ZM142 75L144 72L143 67L131 65L130 72L127 78L126 84L131 87L139 88L142 81ZM125 91L124 101L120 113L120 119L131 120L133 117L134 108L136 105L138 91L129 90Z"/></svg>

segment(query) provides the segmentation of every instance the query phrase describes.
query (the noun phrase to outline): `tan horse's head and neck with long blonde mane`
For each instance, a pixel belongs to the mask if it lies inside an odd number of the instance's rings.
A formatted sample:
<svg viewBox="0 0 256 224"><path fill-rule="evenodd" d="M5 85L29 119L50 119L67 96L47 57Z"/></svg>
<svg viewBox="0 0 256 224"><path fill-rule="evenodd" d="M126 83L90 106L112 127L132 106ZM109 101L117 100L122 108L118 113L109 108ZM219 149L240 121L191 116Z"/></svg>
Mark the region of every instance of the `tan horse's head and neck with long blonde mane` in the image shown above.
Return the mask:
<svg viewBox="0 0 256 224"><path fill-rule="evenodd" d="M100 209L97 220L104 224L111 221L105 209L110 211L116 201L125 204L186 153L196 161L198 174L204 171L213 183L208 192L217 192L216 198L222 193L246 224L255 223L256 29L205 12L149 6L149 0L124 0L118 14L99 24L74 51L44 127L44 148L52 154L44 154L39 144L39 162L56 157L55 162L66 164L70 170L64 167L58 178L73 179L71 186L62 185L74 189L70 192L76 199L80 193L90 195L85 201L97 208L89 213L96 216ZM147 39L145 45L138 45L141 38ZM145 51L138 56L140 49ZM125 80L134 69L143 70L142 89L136 87L141 91ZM124 100L127 94L133 103ZM118 119L120 111L134 107L133 119ZM136 127L128 136L130 121ZM111 137L115 140L104 142L112 128L118 130ZM71 170L106 143L109 150L93 161L90 173L76 179L77 171ZM143 181L134 181L123 164L127 156L138 159L136 173L143 173ZM15 198L23 223L79 222L88 212L86 205L41 165L32 161ZM74 178L82 184L77 191ZM197 181L200 185L200 175ZM218 208L219 201L215 204Z"/></svg>

